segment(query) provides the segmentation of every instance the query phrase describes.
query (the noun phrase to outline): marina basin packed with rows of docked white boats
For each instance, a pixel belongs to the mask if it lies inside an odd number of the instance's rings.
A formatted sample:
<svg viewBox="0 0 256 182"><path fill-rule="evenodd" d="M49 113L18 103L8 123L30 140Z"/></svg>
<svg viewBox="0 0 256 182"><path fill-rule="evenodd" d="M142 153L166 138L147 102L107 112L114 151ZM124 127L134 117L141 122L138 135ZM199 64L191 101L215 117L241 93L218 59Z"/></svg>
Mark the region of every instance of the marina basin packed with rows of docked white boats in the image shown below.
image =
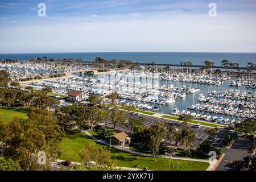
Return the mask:
<svg viewBox="0 0 256 182"><path fill-rule="evenodd" d="M193 75L199 80L221 80L221 84L172 80L164 77L167 73L148 70L87 75L75 73L69 78L53 78L24 86L37 89L53 88L53 92L66 94L69 90L79 90L89 94L106 96L117 92L121 102L134 105L138 109L153 110L162 114L191 114L193 118L216 123L233 124L245 118L255 119L256 89L241 86L233 90L228 76ZM172 73L174 75L174 73ZM188 76L189 77L189 76ZM222 79L220 79L222 77ZM238 80L240 78L232 78ZM82 102L81 102L82 103Z"/></svg>

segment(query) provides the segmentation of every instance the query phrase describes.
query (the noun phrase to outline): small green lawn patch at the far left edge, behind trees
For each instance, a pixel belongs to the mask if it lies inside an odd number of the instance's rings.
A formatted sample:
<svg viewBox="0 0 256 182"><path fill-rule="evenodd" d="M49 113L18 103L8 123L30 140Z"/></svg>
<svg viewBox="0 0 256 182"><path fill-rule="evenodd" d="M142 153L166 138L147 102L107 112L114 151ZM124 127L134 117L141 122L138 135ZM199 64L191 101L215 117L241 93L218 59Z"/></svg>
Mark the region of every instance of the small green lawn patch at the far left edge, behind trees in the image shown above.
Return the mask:
<svg viewBox="0 0 256 182"><path fill-rule="evenodd" d="M27 118L27 113L28 109L22 109L18 107L0 108L0 119L9 122L12 121L15 117Z"/></svg>

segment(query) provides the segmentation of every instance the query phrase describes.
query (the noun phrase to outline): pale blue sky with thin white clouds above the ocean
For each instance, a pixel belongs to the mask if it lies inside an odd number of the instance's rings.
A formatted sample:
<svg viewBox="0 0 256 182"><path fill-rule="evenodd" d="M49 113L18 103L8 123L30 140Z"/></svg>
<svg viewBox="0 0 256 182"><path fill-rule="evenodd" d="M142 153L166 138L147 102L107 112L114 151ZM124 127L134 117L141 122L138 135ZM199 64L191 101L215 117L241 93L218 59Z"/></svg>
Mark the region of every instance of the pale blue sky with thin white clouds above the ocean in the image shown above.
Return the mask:
<svg viewBox="0 0 256 182"><path fill-rule="evenodd" d="M0 1L0 53L256 52L255 32L255 0Z"/></svg>

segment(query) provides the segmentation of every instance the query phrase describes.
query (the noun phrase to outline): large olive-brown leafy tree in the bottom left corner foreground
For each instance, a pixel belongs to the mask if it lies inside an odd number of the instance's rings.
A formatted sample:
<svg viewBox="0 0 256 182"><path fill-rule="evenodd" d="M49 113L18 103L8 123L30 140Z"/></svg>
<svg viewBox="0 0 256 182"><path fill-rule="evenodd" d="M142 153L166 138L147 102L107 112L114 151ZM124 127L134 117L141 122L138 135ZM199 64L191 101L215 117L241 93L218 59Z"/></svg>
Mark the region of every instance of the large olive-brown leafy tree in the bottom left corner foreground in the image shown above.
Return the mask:
<svg viewBox="0 0 256 182"><path fill-rule="evenodd" d="M57 119L46 110L32 108L28 119L15 118L11 122L0 121L0 140L5 143L3 156L20 164L23 170L50 168L50 161L60 154L63 138ZM46 165L38 164L38 152L46 152Z"/></svg>

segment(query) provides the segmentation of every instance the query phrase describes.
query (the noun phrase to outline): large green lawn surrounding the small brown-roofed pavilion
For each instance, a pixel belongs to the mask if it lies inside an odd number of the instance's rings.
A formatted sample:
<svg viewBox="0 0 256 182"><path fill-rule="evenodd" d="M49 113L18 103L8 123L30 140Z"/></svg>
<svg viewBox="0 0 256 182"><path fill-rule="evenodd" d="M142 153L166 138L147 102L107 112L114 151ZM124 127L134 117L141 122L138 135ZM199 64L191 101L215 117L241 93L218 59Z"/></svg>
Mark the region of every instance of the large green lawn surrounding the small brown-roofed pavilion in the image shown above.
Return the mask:
<svg viewBox="0 0 256 182"><path fill-rule="evenodd" d="M111 158L115 160L116 166L121 167L135 167L139 164L139 168L148 167L152 170L168 170L170 159L167 158L157 158L156 162L154 158L148 156L140 156L131 154L118 150L117 148L108 147L103 144L100 144L90 138L85 133L80 134L78 130L68 131L67 135L64 137L63 142L61 143L62 154L59 159L62 160L71 160L73 162L80 162L80 157L78 152L85 147L86 143L91 143L97 147L106 147L111 152ZM209 166L209 163L204 162L193 162L188 160L177 160L171 159L171 170L174 169L173 165L179 162L179 171L203 171L206 170Z"/></svg>

